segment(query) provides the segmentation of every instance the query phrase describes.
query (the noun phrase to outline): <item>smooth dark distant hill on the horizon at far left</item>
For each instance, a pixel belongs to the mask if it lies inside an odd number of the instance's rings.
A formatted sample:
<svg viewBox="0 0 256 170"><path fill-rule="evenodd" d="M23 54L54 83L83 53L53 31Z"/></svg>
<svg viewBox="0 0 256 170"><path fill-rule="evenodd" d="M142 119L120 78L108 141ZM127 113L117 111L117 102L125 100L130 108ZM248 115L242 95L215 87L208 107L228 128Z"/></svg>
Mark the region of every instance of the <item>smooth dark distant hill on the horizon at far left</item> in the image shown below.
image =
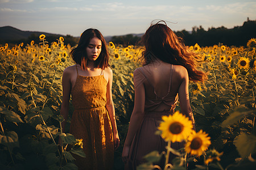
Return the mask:
<svg viewBox="0 0 256 170"><path fill-rule="evenodd" d="M21 31L20 29L11 27L11 26L5 26L0 27L0 40L3 41L16 41L16 40L22 40L22 39L28 39L31 35L39 36L41 34L44 34L46 36L64 36L60 34L53 34L53 33L47 33L47 32L36 32L36 31Z"/></svg>

